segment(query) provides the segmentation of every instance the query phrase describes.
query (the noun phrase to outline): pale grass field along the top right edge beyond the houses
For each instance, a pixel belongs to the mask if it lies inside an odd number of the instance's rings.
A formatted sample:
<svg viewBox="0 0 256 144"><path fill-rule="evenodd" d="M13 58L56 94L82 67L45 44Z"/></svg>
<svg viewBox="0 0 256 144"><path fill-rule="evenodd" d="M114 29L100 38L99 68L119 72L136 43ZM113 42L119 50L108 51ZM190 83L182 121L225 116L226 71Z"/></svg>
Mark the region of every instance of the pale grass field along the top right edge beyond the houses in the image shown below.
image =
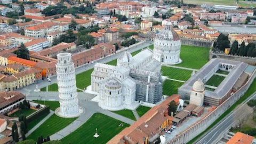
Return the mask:
<svg viewBox="0 0 256 144"><path fill-rule="evenodd" d="M183 0L183 3L185 4L207 4L207 5L233 5L236 6L236 0L229 0L229 1L221 1L221 0ZM247 2L247 1L239 1L238 5L240 6L256 6L256 3L253 2Z"/></svg>

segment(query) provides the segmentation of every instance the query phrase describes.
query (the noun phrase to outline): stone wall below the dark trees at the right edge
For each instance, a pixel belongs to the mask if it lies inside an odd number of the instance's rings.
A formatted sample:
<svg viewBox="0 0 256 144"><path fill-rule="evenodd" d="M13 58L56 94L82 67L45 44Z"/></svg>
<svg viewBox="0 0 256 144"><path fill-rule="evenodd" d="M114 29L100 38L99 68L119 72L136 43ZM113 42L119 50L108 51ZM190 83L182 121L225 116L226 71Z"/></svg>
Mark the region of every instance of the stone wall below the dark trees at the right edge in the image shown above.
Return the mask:
<svg viewBox="0 0 256 144"><path fill-rule="evenodd" d="M209 59L211 60L212 58L221 58L221 59L227 59L227 60L235 60L235 61L242 61L245 63L248 63L249 65L256 65L256 58L254 57L243 57L243 56L238 56L238 55L226 55L226 54L218 54L218 53L210 53L209 54Z"/></svg>

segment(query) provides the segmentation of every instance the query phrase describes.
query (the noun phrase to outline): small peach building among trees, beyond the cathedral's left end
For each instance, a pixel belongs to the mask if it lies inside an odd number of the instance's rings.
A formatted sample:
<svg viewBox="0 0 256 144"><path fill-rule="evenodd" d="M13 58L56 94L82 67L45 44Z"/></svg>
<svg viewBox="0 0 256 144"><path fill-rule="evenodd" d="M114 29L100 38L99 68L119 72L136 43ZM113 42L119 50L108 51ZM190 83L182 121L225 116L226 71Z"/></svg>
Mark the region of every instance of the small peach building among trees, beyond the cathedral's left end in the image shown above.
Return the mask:
<svg viewBox="0 0 256 144"><path fill-rule="evenodd" d="M98 33L101 33L105 36L105 43L111 42L119 38L119 30L116 28L105 28L98 30Z"/></svg>

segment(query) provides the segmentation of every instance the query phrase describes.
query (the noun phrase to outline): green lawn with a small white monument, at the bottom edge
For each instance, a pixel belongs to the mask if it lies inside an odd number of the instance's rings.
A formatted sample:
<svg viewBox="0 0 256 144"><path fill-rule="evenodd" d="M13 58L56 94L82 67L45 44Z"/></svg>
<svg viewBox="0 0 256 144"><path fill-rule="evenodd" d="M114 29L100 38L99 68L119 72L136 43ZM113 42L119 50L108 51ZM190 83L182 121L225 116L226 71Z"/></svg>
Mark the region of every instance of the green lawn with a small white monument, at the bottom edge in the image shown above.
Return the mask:
<svg viewBox="0 0 256 144"><path fill-rule="evenodd" d="M118 126L121 123L123 126ZM103 144L107 143L111 138L113 138L116 134L128 126L129 124L118 121L117 119L103 115L101 113L96 113L93 114L92 117L89 118L88 121L86 121L76 131L61 139L61 142L63 144L68 144L69 142L76 144ZM98 138L93 137L96 128L98 129L97 133L100 135Z"/></svg>

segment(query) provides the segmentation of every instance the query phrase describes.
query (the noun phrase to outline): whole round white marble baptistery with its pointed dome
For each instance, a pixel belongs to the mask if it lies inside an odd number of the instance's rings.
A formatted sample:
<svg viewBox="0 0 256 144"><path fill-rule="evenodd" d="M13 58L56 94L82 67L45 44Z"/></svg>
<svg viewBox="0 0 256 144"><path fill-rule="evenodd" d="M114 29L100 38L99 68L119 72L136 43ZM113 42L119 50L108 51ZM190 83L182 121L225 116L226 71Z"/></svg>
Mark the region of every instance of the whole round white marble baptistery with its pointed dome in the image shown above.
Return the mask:
<svg viewBox="0 0 256 144"><path fill-rule="evenodd" d="M168 22L155 38L154 58L159 62L170 65L180 62L181 42L179 35Z"/></svg>

